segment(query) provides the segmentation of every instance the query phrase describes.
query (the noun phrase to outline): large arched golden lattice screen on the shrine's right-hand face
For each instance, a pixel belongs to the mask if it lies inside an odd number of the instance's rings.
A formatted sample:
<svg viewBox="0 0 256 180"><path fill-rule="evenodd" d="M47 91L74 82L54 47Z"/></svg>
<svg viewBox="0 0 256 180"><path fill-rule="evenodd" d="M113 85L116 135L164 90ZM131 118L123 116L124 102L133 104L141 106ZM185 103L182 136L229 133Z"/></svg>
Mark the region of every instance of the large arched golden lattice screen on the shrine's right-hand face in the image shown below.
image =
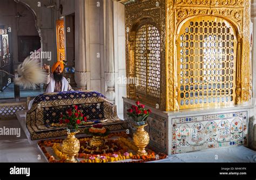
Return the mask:
<svg viewBox="0 0 256 180"><path fill-rule="evenodd" d="M180 109L234 104L237 37L223 18L187 20L177 41Z"/></svg>

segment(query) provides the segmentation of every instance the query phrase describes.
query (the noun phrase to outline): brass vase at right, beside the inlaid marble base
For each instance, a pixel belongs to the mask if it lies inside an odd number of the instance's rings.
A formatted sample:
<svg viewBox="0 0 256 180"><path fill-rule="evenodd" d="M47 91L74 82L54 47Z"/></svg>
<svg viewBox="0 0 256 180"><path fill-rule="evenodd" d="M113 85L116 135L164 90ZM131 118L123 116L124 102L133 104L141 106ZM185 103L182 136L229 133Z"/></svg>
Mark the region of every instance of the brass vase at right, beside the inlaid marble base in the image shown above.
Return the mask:
<svg viewBox="0 0 256 180"><path fill-rule="evenodd" d="M144 129L145 126L147 126L147 124L136 126L137 130L132 137L135 146L138 148L137 154L139 156L147 155L145 148L150 141L149 133Z"/></svg>

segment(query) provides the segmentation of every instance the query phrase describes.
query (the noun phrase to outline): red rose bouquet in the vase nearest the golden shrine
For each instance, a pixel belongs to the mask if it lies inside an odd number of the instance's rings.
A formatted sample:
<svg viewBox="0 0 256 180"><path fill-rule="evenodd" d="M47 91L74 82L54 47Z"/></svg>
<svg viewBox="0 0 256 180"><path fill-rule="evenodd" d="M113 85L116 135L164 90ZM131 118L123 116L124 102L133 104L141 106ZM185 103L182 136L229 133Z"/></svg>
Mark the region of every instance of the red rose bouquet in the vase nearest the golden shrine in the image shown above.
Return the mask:
<svg viewBox="0 0 256 180"><path fill-rule="evenodd" d="M127 110L127 115L132 117L137 125L142 126L145 124L147 117L149 117L151 110L145 109L145 105L140 104L139 101L136 102L136 105L137 106L132 105L132 107Z"/></svg>

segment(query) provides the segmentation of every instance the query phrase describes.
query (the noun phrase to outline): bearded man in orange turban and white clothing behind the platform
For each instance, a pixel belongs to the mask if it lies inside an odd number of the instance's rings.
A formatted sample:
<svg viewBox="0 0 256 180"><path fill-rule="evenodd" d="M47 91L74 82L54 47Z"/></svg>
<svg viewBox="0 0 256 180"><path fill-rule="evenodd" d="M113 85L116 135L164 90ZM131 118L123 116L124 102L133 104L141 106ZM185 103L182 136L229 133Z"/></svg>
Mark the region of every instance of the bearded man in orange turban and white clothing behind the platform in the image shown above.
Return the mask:
<svg viewBox="0 0 256 180"><path fill-rule="evenodd" d="M73 91L68 80L66 80L66 78L62 75L64 70L64 64L62 61L58 61L57 63L53 64L51 73L48 65L44 65L44 69L48 71L48 78L46 81L48 86L45 91L46 93Z"/></svg>

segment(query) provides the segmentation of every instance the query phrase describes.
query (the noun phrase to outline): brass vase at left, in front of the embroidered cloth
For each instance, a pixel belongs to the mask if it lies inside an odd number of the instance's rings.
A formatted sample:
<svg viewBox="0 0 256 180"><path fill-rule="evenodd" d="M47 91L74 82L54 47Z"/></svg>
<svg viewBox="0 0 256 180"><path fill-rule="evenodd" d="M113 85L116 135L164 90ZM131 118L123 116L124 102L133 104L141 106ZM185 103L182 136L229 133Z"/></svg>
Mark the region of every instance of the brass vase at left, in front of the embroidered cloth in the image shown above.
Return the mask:
<svg viewBox="0 0 256 180"><path fill-rule="evenodd" d="M80 142L76 138L76 134L79 131L70 131L68 130L68 137L62 142L62 153L67 155L65 162L75 163L77 162L75 156L79 152Z"/></svg>

